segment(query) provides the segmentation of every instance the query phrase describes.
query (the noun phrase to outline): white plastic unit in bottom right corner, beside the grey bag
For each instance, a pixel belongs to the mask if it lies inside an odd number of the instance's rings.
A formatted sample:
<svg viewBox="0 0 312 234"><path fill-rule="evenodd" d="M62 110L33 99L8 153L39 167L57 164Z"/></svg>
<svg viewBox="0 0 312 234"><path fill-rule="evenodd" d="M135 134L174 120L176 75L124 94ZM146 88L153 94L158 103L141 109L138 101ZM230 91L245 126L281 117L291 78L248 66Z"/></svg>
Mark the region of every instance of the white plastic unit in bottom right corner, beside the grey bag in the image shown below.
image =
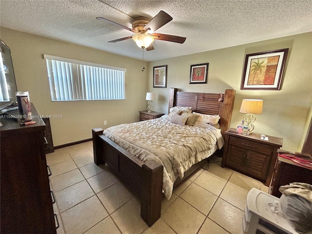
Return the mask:
<svg viewBox="0 0 312 234"><path fill-rule="evenodd" d="M271 211L270 204L279 198L252 188L247 195L240 234L298 234L284 217L281 209Z"/></svg>

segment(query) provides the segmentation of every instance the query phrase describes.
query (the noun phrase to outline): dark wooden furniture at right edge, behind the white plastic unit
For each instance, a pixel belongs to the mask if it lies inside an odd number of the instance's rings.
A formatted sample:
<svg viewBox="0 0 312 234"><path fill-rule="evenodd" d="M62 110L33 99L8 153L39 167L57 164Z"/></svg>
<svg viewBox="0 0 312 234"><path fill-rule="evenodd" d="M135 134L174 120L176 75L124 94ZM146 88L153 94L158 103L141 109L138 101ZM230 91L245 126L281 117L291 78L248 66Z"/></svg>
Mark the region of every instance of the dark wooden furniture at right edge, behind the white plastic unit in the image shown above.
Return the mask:
<svg viewBox="0 0 312 234"><path fill-rule="evenodd" d="M290 159L278 156L269 187L269 194L280 197L282 193L279 192L279 187L293 182L312 185L312 169L296 164Z"/></svg>

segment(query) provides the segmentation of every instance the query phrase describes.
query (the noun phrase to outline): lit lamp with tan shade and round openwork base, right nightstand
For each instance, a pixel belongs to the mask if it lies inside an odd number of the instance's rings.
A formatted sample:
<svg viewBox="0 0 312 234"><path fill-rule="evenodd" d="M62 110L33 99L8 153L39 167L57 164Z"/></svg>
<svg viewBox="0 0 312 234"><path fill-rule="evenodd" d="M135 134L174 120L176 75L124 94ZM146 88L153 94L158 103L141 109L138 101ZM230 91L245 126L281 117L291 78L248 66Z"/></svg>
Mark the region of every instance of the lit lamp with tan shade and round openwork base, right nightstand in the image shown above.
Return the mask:
<svg viewBox="0 0 312 234"><path fill-rule="evenodd" d="M243 120L245 123L248 123L248 135L252 134L254 130L254 124L252 124L255 121L254 114L262 114L262 107L263 100L261 99L243 99L239 112L247 113L243 117Z"/></svg>

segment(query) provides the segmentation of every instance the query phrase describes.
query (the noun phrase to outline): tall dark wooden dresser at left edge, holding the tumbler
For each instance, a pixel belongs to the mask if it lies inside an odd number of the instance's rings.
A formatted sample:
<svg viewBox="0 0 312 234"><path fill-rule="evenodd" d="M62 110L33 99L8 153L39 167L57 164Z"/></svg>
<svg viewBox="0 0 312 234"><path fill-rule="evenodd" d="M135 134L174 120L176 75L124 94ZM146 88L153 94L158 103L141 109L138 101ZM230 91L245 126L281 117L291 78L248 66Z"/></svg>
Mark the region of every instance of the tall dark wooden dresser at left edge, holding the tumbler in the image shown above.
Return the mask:
<svg viewBox="0 0 312 234"><path fill-rule="evenodd" d="M45 124L33 105L31 110L35 124L20 126L15 119L0 119L1 234L57 233L44 153Z"/></svg>

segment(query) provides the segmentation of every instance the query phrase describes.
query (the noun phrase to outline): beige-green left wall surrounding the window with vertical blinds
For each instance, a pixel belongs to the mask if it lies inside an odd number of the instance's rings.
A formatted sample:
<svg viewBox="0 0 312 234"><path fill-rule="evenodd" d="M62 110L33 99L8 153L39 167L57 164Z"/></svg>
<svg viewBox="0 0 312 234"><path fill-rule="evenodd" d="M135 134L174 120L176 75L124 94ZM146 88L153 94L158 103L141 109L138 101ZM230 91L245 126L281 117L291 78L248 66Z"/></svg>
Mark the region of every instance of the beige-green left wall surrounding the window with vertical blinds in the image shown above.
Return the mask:
<svg viewBox="0 0 312 234"><path fill-rule="evenodd" d="M50 119L54 146L91 138L92 128L138 121L138 111L147 108L147 71L141 71L141 60L3 27L0 32L11 49L18 89L29 91L40 115L62 115ZM52 102L43 54L126 68L126 99Z"/></svg>

